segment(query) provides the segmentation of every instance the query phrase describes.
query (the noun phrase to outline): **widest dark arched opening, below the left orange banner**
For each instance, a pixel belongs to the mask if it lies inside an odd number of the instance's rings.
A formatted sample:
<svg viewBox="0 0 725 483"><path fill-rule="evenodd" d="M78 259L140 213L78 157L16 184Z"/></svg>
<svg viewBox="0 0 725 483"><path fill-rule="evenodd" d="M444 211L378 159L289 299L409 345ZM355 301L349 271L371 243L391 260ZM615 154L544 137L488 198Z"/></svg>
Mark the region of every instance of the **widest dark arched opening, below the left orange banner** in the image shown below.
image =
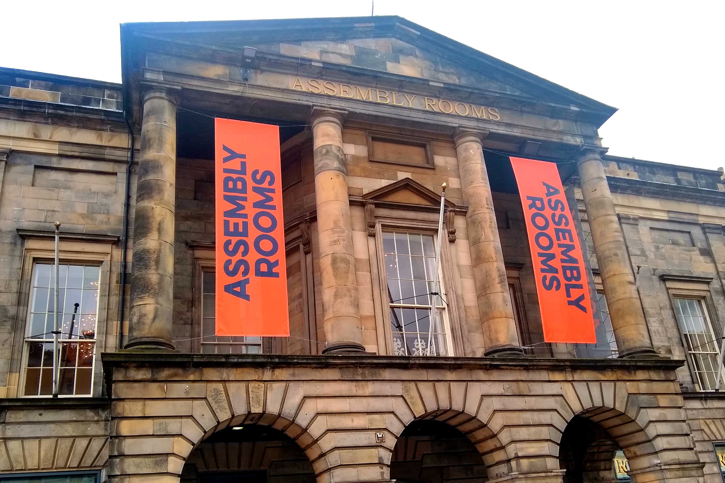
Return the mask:
<svg viewBox="0 0 725 483"><path fill-rule="evenodd" d="M226 427L188 455L181 483L315 483L297 442L261 424Z"/></svg>

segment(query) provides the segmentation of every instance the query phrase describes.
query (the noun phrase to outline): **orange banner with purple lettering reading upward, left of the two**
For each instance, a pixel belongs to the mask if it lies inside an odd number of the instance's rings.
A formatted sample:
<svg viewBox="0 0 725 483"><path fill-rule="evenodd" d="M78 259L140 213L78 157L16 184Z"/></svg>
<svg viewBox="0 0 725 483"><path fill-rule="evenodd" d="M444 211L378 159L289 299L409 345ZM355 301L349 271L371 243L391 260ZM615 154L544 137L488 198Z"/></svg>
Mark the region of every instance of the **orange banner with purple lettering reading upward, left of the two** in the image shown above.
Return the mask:
<svg viewBox="0 0 725 483"><path fill-rule="evenodd" d="M279 127L215 119L216 335L289 335Z"/></svg>

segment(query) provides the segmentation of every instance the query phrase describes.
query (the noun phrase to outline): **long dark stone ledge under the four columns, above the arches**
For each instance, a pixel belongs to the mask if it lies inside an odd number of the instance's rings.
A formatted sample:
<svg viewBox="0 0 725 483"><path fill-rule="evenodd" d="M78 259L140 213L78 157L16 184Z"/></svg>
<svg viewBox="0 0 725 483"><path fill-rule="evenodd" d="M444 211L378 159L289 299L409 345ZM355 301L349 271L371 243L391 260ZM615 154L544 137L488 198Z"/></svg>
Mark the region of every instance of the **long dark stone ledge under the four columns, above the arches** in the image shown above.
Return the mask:
<svg viewBox="0 0 725 483"><path fill-rule="evenodd" d="M101 353L104 368L120 366L184 366L184 367L241 367L289 366L334 367L356 366L397 369L663 369L674 371L684 361L666 358L652 359L554 359L527 357L408 357L408 356L285 356L281 354L191 354L123 350Z"/></svg>

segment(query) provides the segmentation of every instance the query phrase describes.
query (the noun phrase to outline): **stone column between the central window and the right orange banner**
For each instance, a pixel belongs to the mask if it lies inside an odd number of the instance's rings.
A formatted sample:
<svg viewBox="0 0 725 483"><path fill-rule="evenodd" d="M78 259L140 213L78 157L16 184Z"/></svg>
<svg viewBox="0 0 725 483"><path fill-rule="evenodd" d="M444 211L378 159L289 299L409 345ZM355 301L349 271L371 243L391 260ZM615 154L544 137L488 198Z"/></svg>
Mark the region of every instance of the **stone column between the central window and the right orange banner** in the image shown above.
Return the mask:
<svg viewBox="0 0 725 483"><path fill-rule="evenodd" d="M473 282L486 343L486 356L520 356L523 353L513 319L506 267L501 251L494 201L486 172L481 138L484 133L457 130L455 148L463 188L468 204L465 224L471 246Z"/></svg>

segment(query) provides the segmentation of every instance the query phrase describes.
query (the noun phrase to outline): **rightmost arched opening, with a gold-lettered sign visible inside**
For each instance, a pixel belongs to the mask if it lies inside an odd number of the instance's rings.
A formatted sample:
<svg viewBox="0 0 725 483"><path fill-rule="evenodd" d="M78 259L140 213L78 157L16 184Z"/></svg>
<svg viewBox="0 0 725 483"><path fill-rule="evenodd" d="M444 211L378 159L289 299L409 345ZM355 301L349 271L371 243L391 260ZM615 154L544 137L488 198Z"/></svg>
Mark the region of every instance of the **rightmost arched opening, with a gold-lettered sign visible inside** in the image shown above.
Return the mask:
<svg viewBox="0 0 725 483"><path fill-rule="evenodd" d="M574 416L566 425L559 445L560 468L566 469L563 483L631 482L625 462L618 443L600 424Z"/></svg>

